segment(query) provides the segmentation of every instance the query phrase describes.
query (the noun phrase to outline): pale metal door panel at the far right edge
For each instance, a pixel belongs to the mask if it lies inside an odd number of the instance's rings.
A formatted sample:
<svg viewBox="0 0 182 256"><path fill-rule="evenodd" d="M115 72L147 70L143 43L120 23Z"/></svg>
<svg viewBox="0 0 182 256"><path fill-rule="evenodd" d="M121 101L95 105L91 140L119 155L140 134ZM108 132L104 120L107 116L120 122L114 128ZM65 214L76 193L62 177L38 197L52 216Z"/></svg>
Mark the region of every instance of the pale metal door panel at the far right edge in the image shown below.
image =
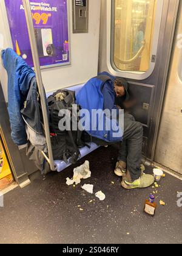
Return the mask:
<svg viewBox="0 0 182 256"><path fill-rule="evenodd" d="M155 162L182 174L182 3L158 135Z"/></svg>

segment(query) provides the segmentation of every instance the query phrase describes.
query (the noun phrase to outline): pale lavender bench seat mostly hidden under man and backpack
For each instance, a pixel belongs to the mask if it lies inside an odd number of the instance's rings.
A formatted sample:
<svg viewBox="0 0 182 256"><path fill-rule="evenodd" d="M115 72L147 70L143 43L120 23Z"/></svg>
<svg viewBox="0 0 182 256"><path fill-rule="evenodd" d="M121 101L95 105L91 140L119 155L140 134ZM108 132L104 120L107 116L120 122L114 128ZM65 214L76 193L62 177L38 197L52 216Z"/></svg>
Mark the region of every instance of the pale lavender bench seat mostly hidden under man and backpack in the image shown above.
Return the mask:
<svg viewBox="0 0 182 256"><path fill-rule="evenodd" d="M80 85L75 85L69 88L64 88L67 90L71 90L71 91L75 91L75 94L77 94L79 92L79 90L81 90L81 88L84 86L85 84L80 84ZM46 93L47 98L53 94L52 93ZM80 153L81 153L81 158L85 157L86 155L90 154L91 152L95 151L95 149L99 148L99 146L97 146L95 143L89 143L90 148L88 148L87 146L84 148L79 149ZM54 160L55 165L57 166L57 171L61 172L64 169L66 169L67 167L69 167L70 165L72 165L72 163L65 163L63 160Z"/></svg>

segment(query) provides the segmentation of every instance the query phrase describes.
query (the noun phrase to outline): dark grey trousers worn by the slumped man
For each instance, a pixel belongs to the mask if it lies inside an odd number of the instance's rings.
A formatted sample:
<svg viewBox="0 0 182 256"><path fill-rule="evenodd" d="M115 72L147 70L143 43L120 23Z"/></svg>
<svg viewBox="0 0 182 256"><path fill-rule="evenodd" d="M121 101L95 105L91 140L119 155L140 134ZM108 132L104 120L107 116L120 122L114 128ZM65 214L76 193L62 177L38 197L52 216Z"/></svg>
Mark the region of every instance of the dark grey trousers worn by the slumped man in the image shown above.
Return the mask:
<svg viewBox="0 0 182 256"><path fill-rule="evenodd" d="M121 142L118 161L127 163L132 181L141 176L143 126L132 115L124 114L124 136Z"/></svg>

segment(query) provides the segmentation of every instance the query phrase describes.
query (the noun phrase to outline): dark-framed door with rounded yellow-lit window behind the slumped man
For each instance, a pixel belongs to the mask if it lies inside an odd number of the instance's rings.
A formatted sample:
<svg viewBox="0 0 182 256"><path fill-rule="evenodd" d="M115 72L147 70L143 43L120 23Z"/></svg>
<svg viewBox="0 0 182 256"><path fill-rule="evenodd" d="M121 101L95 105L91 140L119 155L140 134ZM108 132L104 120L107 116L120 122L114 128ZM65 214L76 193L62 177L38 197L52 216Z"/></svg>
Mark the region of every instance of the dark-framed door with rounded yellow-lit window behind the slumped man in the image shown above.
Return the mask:
<svg viewBox="0 0 182 256"><path fill-rule="evenodd" d="M156 148L178 6L178 0L102 1L99 71L127 79L137 103L132 115L143 124L143 155L150 163Z"/></svg>

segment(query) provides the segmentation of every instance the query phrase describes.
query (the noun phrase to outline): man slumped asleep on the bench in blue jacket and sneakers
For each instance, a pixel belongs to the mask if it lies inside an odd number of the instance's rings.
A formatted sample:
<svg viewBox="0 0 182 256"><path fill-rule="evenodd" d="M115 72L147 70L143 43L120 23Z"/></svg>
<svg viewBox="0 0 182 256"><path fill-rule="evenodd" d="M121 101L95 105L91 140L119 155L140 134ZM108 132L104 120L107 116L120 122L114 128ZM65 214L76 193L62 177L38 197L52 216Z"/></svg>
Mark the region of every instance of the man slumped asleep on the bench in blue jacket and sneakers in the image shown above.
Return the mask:
<svg viewBox="0 0 182 256"><path fill-rule="evenodd" d="M90 97L92 95L92 97ZM94 100L93 100L94 99ZM132 107L128 84L125 79L116 77L112 79L106 74L90 79L89 82L79 91L76 96L77 104L88 110L119 110L120 108ZM98 104L100 102L100 104ZM98 107L99 106L99 107ZM87 130L89 135L102 140L108 137L102 137L101 131L93 132ZM103 133L104 134L104 133ZM121 146L118 154L118 162L116 163L115 174L122 177L121 185L126 189L147 188L154 182L152 175L143 175L140 168L143 144L143 126L136 122L132 115L124 112L124 133L121 138Z"/></svg>

